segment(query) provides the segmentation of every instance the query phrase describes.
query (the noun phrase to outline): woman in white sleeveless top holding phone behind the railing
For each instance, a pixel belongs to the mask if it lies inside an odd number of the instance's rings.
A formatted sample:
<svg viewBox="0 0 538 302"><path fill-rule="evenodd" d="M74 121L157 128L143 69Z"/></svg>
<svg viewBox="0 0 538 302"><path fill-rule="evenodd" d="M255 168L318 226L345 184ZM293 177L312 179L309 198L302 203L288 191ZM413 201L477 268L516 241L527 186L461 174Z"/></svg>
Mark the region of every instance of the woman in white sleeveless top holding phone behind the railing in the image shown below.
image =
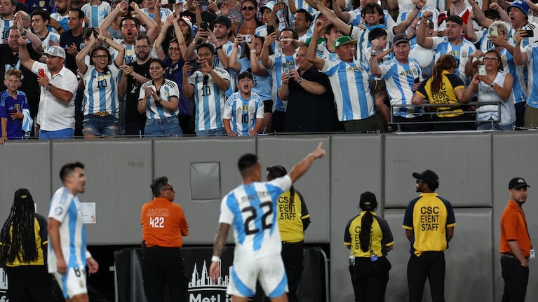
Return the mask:
<svg viewBox="0 0 538 302"><path fill-rule="evenodd" d="M476 108L476 130L513 130L516 125L513 77L503 71L501 55L487 50L483 57L485 75L474 74L469 89L478 92L478 102L499 102Z"/></svg>

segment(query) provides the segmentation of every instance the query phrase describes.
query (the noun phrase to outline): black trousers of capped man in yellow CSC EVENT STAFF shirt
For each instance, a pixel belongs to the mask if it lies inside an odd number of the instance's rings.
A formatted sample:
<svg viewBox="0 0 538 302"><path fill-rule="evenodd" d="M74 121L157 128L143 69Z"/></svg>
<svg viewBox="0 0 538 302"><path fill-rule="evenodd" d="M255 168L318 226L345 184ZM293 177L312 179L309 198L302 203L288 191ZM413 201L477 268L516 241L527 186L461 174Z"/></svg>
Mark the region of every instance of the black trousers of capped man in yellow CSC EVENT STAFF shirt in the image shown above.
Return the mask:
<svg viewBox="0 0 538 302"><path fill-rule="evenodd" d="M422 301L428 278L432 302L445 302L445 252L412 254L408 262L409 302Z"/></svg>

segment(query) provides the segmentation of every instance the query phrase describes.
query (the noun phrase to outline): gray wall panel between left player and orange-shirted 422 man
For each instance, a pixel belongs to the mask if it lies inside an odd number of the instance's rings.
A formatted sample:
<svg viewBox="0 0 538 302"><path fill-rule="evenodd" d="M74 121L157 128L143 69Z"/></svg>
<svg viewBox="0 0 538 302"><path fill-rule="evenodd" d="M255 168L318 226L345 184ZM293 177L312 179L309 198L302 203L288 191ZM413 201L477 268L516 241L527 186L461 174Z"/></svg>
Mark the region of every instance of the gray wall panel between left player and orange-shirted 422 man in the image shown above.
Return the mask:
<svg viewBox="0 0 538 302"><path fill-rule="evenodd" d="M140 207L152 198L152 141L87 140L52 143L52 187L61 186L58 172L65 163L80 161L86 172L82 202L95 202L97 224L88 224L90 245L131 245L142 242Z"/></svg>

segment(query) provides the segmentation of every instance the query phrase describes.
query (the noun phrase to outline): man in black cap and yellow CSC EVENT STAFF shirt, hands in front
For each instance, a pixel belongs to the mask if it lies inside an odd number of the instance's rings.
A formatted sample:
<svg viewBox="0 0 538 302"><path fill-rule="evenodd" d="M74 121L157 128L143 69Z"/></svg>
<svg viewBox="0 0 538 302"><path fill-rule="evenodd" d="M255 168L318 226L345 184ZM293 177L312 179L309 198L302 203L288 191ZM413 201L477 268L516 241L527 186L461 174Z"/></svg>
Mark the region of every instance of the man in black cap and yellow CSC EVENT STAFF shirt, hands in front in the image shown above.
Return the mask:
<svg viewBox="0 0 538 302"><path fill-rule="evenodd" d="M409 301L422 301L426 277L431 289L431 301L445 301L445 249L454 235L456 219L452 205L435 193L439 177L432 170L414 172L420 196L410 201L403 228L411 242L408 262Z"/></svg>

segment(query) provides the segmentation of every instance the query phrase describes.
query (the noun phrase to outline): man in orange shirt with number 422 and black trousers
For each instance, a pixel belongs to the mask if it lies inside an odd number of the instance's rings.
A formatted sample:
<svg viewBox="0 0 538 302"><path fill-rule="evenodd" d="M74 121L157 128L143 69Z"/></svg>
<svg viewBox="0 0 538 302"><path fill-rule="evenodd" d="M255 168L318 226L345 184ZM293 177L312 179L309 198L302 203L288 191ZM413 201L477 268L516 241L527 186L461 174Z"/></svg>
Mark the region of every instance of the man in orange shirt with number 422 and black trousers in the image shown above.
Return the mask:
<svg viewBox="0 0 538 302"><path fill-rule="evenodd" d="M187 278L181 247L189 235L189 224L180 205L173 203L175 191L166 176L152 181L154 199L142 205L142 277L148 301L187 301Z"/></svg>

